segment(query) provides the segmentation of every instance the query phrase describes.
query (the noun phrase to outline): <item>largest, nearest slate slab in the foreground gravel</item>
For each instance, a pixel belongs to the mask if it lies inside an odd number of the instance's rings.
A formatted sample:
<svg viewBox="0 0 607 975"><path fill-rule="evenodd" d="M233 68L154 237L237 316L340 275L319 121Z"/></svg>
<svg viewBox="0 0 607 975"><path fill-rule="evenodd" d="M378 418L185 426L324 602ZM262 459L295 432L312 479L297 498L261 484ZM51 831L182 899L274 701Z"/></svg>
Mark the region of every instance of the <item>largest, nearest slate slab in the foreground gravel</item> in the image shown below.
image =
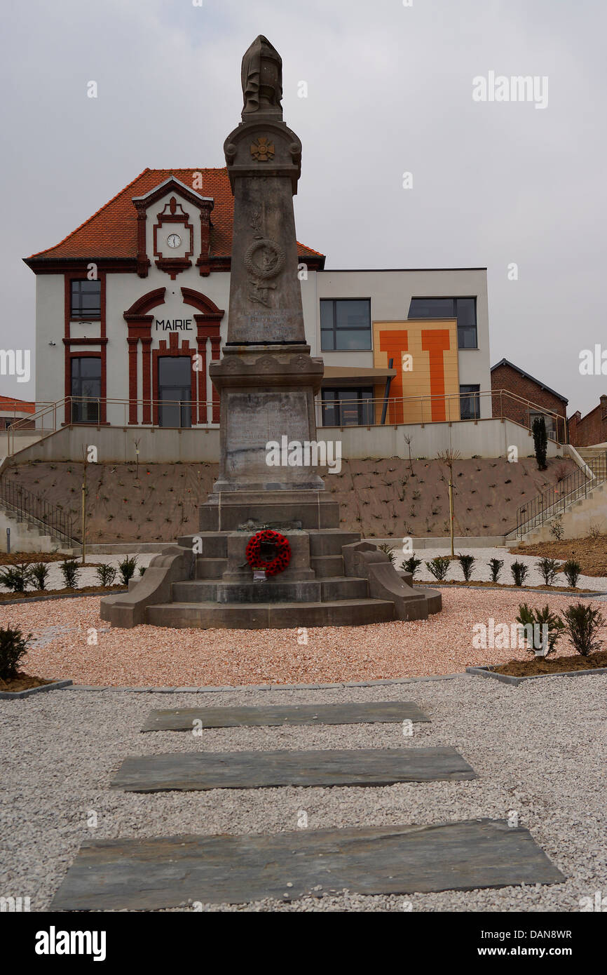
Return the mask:
<svg viewBox="0 0 607 975"><path fill-rule="evenodd" d="M300 830L272 836L102 839L81 846L51 911L153 911L297 900L344 889L413 894L565 878L503 820Z"/></svg>

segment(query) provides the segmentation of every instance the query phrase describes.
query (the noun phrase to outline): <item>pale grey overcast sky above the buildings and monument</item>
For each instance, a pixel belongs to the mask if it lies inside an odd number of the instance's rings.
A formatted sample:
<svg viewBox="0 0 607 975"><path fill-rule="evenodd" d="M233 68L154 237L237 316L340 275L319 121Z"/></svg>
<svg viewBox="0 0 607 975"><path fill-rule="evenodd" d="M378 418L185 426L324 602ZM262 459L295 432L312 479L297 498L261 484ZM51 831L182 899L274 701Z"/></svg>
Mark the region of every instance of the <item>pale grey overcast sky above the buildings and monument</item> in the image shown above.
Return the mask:
<svg viewBox="0 0 607 975"><path fill-rule="evenodd" d="M601 0L26 0L3 20L0 348L33 348L21 257L145 167L224 165L262 33L303 142L299 240L327 268L486 265L491 364L511 359L569 414L607 392L579 371L581 350L607 349ZM548 77L547 107L474 101L490 71ZM6 376L0 392L34 398Z"/></svg>

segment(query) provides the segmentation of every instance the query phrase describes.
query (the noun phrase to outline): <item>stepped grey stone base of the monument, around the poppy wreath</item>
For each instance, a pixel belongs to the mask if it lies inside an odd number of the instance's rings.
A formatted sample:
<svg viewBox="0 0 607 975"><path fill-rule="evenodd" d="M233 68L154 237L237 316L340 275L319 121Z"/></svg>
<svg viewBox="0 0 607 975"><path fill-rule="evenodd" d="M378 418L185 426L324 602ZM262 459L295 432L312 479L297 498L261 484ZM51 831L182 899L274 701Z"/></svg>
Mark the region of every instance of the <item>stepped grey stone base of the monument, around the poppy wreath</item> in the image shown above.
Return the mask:
<svg viewBox="0 0 607 975"><path fill-rule="evenodd" d="M281 531L285 571L253 580L246 548L263 528ZM201 530L156 556L129 592L101 600L113 626L284 629L427 619L440 593L412 585L384 552L339 528L339 507L322 491L210 495Z"/></svg>

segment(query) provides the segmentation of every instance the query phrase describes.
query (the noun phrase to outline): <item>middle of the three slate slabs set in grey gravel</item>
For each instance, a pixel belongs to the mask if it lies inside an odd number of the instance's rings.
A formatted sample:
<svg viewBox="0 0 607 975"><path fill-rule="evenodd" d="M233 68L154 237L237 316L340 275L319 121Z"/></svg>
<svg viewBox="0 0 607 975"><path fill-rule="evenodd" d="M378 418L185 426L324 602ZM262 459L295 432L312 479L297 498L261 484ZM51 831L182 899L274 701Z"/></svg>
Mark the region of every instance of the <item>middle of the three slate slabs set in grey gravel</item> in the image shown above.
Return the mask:
<svg viewBox="0 0 607 975"><path fill-rule="evenodd" d="M474 779L454 749L391 748L295 752L188 752L125 759L113 789L150 793L271 786L385 786Z"/></svg>

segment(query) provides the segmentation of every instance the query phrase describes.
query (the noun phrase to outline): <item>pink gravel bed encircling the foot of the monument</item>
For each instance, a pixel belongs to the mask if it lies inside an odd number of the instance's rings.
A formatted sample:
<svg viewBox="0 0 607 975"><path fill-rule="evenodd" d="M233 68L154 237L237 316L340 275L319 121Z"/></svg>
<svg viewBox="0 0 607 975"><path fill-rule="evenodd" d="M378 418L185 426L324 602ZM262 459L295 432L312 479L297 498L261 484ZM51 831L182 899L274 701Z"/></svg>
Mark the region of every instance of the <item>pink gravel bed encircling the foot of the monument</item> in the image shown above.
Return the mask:
<svg viewBox="0 0 607 975"><path fill-rule="evenodd" d="M307 645L298 643L298 630L153 626L99 632L98 643L90 645L90 631L107 626L98 616L99 600L94 597L0 606L0 625L19 626L48 641L32 647L24 664L27 673L44 678L157 687L337 683L461 673L471 665L528 659L524 650L475 649L474 624L487 624L489 617L496 625L511 624L523 601L549 603L559 611L571 604L567 597L544 593L442 592L442 612L426 621L309 629ZM571 645L561 638L558 655L571 652Z"/></svg>

